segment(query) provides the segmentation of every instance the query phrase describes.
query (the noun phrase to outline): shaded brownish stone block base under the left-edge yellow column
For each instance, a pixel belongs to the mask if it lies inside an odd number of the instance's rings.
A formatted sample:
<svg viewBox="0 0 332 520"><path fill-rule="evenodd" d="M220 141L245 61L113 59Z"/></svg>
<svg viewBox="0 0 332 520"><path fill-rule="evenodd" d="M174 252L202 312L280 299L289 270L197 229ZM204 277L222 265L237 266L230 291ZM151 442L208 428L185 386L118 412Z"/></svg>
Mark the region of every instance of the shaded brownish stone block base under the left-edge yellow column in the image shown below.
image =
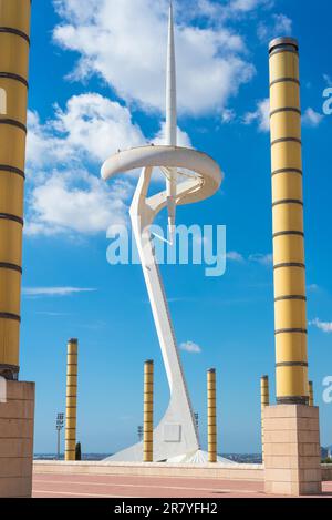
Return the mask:
<svg viewBox="0 0 332 520"><path fill-rule="evenodd" d="M0 497L32 491L34 383L1 379Z"/></svg>

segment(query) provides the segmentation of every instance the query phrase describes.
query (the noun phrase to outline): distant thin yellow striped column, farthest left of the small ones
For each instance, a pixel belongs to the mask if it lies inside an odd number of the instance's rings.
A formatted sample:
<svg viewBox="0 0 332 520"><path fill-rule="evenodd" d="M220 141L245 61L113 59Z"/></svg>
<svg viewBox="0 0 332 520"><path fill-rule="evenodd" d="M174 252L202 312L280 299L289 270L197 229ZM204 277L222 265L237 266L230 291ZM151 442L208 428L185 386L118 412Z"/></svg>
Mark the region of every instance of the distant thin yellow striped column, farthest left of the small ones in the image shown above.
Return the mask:
<svg viewBox="0 0 332 520"><path fill-rule="evenodd" d="M68 341L65 460L75 460L77 418L77 339Z"/></svg>

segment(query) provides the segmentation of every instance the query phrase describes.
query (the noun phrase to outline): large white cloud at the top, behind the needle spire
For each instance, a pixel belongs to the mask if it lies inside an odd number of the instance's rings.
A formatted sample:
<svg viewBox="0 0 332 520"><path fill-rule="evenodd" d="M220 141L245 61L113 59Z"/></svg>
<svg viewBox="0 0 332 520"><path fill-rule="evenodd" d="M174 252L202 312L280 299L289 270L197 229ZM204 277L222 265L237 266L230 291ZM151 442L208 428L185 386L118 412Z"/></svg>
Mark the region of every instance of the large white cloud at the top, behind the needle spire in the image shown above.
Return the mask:
<svg viewBox="0 0 332 520"><path fill-rule="evenodd" d="M58 0L55 41L76 51L72 74L97 74L127 103L164 111L167 0ZM206 9L212 9L205 2ZM86 8L86 9L85 9ZM176 29L179 110L194 115L221 110L255 68L242 38L225 27Z"/></svg>

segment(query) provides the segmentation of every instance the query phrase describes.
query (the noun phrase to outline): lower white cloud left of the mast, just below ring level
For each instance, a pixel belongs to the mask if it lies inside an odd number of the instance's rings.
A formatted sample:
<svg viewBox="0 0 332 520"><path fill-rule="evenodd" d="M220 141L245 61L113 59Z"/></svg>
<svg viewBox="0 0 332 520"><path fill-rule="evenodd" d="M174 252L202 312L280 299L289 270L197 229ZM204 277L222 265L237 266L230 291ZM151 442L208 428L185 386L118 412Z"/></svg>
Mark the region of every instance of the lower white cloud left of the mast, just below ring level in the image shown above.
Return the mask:
<svg viewBox="0 0 332 520"><path fill-rule="evenodd" d="M28 235L95 234L111 224L127 223L126 201L133 186L114 181L110 186L84 171L55 172L28 195Z"/></svg>

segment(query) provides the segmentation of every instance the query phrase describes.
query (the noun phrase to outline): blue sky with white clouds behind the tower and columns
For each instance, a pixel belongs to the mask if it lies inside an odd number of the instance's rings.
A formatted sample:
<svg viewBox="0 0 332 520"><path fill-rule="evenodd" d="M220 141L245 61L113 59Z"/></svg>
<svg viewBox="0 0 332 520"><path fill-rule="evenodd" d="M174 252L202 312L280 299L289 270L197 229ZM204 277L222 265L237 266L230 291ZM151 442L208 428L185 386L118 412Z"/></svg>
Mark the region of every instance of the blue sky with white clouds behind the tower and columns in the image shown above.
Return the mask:
<svg viewBox="0 0 332 520"><path fill-rule="evenodd" d="M212 155L220 192L178 223L227 226L225 276L163 266L181 359L206 442L206 369L218 370L219 450L260 449L259 378L274 395L268 41L301 45L310 378L332 443L331 2L176 2L181 142ZM53 451L65 407L65 351L80 340L79 439L112 452L136 440L143 363L156 363L157 421L168 389L141 267L106 263L112 223L127 223L135 177L110 185L103 161L163 132L165 0L34 0L30 68L21 379L37 381L35 451ZM54 289L55 288L55 289ZM84 289L84 290L83 290ZM89 289L89 290L87 290ZM330 332L329 332L330 330Z"/></svg>

